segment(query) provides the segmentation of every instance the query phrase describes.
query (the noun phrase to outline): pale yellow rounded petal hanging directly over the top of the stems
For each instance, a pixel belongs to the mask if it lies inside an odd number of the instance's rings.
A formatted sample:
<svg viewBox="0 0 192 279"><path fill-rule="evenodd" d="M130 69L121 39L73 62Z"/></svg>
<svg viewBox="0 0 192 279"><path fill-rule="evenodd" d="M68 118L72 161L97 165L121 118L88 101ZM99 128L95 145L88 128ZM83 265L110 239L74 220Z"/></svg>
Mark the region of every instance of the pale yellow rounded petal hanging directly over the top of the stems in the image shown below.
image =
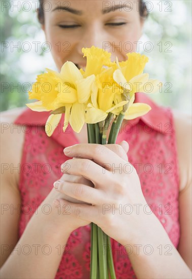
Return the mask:
<svg viewBox="0 0 192 279"><path fill-rule="evenodd" d="M85 122L89 124L94 124L101 122L106 119L107 113L96 108L90 108L85 114Z"/></svg>

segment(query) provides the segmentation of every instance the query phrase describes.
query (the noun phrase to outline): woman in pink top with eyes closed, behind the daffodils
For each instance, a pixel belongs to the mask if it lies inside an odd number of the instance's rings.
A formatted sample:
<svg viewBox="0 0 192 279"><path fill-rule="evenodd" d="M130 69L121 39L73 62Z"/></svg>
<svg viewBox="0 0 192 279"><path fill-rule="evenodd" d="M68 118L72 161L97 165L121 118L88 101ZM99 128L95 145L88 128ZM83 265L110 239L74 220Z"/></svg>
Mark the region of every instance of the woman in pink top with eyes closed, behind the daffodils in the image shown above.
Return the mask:
<svg viewBox="0 0 192 279"><path fill-rule="evenodd" d="M114 46L136 46L146 17L140 1L131 4L51 1L49 10L41 1L58 71L67 60L84 67L81 49L92 45L125 60ZM88 278L90 222L112 238L117 278L190 278L190 121L137 93L142 100L152 110L130 129L123 121L108 146L87 145L86 124L48 138L47 113L2 114L2 278Z"/></svg>

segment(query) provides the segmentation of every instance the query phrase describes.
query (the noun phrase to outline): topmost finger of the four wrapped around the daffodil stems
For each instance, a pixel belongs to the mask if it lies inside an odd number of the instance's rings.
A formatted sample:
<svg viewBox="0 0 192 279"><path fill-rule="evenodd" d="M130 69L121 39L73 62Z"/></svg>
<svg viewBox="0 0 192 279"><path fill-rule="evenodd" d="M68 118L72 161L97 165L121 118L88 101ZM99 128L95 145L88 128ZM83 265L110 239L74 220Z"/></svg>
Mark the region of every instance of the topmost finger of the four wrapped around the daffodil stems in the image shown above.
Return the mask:
<svg viewBox="0 0 192 279"><path fill-rule="evenodd" d="M120 145L116 145L116 148L121 149L123 152L123 148ZM64 153L70 157L81 157L89 160L94 160L95 163L103 166L103 164L122 164L124 160L120 158L116 153L111 151L109 148L106 148L105 145L99 144L77 144L71 147L65 148ZM75 159L74 159L75 160Z"/></svg>

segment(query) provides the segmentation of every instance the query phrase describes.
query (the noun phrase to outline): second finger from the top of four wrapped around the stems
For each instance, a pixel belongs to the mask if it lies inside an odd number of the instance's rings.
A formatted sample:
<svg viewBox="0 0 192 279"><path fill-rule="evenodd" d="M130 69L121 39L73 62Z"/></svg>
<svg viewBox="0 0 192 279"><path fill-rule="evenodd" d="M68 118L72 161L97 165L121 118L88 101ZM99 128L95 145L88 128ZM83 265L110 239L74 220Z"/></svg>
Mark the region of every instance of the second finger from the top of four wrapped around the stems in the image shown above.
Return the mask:
<svg viewBox="0 0 192 279"><path fill-rule="evenodd" d="M66 170L66 164L68 165L68 170ZM99 164L89 159L75 158L73 160L72 159L67 160L65 163L63 163L61 165L61 171L63 173L68 171L70 175L76 175L76 176L81 175L84 178L90 180L94 184L94 186L97 187L97 184L101 185L102 181L111 180L111 176L110 176L111 172L108 169L111 167L113 168L114 166L113 165L111 166L109 163L103 164L103 166L104 167L100 166ZM114 179L115 178L113 178L113 180ZM103 187L105 187L104 184Z"/></svg>

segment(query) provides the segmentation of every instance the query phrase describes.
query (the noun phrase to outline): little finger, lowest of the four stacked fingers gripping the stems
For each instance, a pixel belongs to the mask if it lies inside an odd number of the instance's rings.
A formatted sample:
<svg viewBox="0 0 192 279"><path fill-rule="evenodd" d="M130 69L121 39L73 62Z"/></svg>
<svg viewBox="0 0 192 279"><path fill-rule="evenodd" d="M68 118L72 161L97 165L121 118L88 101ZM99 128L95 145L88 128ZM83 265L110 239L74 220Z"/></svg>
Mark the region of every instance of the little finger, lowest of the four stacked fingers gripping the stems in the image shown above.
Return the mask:
<svg viewBox="0 0 192 279"><path fill-rule="evenodd" d="M85 221L94 222L99 215L98 207L93 205L73 203L61 198L54 200L53 203L56 204L57 207L59 206L62 214L71 214Z"/></svg>

